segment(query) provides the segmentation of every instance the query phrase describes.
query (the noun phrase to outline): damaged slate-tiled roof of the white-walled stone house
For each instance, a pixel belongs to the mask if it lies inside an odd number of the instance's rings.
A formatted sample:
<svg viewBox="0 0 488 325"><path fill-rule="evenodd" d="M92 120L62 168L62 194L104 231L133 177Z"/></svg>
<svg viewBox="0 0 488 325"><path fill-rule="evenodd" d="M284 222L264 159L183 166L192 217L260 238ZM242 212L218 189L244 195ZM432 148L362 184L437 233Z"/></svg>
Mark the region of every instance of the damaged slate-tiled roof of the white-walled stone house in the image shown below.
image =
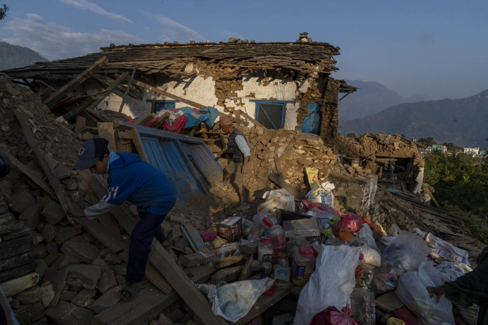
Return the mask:
<svg viewBox="0 0 488 325"><path fill-rule="evenodd" d="M13 78L33 78L40 74L44 78L59 74L77 74L106 56L109 63L103 68L104 73L131 71L137 63L138 73L143 74L180 74L181 61L195 59L217 63L222 67L246 69L281 70L293 76L295 73L330 74L339 70L334 66L337 61L333 55L339 55L340 48L319 42L277 42L247 43L229 42L193 43L193 44L141 44L102 47L102 52L62 60L37 62L31 66L6 71ZM172 68L177 68L173 71ZM48 71L48 72L47 72Z"/></svg>

